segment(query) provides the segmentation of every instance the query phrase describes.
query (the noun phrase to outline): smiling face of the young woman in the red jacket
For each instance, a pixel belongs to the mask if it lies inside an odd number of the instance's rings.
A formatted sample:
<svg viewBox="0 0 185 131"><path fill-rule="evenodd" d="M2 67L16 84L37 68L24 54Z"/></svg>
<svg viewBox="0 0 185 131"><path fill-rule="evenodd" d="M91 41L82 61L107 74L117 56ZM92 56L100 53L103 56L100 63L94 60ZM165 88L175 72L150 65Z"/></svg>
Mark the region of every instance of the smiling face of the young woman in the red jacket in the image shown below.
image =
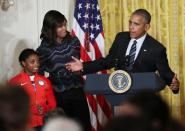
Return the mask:
<svg viewBox="0 0 185 131"><path fill-rule="evenodd" d="M25 61L22 61L22 65L28 75L34 75L39 69L39 57L36 54L30 55Z"/></svg>

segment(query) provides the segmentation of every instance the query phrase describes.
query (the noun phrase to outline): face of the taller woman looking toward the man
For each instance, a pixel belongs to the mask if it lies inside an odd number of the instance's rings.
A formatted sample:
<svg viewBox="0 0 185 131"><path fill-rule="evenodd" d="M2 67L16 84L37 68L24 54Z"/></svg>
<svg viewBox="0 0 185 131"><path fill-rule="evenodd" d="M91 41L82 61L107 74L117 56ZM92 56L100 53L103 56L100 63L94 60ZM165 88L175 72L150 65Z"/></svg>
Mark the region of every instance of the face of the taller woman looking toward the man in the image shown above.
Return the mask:
<svg viewBox="0 0 185 131"><path fill-rule="evenodd" d="M57 39L63 39L67 34L67 21L64 21L61 26L56 28Z"/></svg>

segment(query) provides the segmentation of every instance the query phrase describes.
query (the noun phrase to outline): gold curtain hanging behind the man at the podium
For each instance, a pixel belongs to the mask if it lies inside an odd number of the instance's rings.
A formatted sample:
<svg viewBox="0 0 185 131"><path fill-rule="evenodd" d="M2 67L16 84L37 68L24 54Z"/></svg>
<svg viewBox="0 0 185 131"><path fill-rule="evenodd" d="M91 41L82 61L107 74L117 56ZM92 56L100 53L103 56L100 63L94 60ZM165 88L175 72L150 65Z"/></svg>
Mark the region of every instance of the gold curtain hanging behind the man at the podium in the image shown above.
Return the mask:
<svg viewBox="0 0 185 131"><path fill-rule="evenodd" d="M128 31L130 14L147 9L152 16L150 35L164 44L170 67L180 80L180 93L161 91L173 117L185 124L185 0L99 0L106 54L118 32Z"/></svg>

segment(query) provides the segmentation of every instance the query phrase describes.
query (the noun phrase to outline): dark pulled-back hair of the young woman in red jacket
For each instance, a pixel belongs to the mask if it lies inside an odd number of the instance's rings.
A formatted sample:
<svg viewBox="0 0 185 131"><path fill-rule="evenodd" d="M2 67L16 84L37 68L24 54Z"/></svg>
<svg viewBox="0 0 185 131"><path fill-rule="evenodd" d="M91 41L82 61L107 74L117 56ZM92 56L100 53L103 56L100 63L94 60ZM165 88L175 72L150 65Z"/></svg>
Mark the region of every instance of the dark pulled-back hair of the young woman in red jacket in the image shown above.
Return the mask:
<svg viewBox="0 0 185 131"><path fill-rule="evenodd" d="M35 51L35 50L33 50L33 49L30 49L30 48L26 48L26 49L24 49L21 53L20 53L20 55L19 55L19 62L20 62L20 64L21 64L21 66L23 66L22 65L22 61L25 61L28 57L30 57L31 55L37 55L38 56L38 53Z"/></svg>

